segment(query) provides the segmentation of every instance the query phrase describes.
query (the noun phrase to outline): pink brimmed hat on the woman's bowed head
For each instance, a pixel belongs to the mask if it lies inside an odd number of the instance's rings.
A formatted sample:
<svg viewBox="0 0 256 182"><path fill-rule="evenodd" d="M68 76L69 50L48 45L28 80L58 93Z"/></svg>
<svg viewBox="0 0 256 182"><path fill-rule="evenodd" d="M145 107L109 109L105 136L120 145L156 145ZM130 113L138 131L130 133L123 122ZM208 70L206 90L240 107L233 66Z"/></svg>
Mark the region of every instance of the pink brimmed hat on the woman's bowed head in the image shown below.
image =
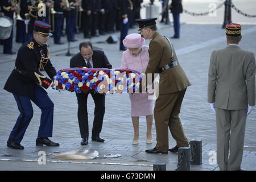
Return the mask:
<svg viewBox="0 0 256 182"><path fill-rule="evenodd" d="M123 46L127 48L140 48L143 46L145 39L141 34L129 34L123 39Z"/></svg>

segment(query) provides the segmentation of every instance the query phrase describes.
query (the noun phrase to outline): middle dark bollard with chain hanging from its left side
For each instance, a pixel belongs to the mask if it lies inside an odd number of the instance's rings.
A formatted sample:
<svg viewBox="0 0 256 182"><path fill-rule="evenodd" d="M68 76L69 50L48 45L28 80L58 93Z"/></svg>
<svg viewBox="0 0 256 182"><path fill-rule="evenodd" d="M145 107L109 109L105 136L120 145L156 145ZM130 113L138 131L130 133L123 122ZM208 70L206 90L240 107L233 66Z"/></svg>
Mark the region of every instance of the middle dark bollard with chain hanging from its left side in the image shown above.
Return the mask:
<svg viewBox="0 0 256 182"><path fill-rule="evenodd" d="M190 171L190 147L179 147L177 171Z"/></svg>

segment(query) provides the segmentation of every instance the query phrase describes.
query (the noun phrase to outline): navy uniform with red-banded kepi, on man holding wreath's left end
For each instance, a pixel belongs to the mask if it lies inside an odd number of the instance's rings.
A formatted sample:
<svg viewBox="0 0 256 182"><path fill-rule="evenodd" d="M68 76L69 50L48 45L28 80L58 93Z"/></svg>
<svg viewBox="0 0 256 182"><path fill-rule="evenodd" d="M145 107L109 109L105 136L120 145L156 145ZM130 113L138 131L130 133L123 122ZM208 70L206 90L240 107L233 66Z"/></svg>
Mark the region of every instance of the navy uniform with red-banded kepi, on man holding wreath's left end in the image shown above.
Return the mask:
<svg viewBox="0 0 256 182"><path fill-rule="evenodd" d="M51 26L44 22L35 22L34 30L40 35L48 36L50 28ZM46 144L42 140L52 137L54 105L47 92L43 89L49 88L52 80L40 73L40 68L43 68L51 79L56 75L56 70L52 67L49 60L47 46L39 44L33 38L19 48L15 67L4 87L5 90L13 93L20 111L20 115L7 142L7 146L11 148L24 148L20 147L19 143L22 141L28 124L33 117L31 101L42 110L36 145ZM51 143L50 140L47 141L47 145L59 146L59 144Z"/></svg>

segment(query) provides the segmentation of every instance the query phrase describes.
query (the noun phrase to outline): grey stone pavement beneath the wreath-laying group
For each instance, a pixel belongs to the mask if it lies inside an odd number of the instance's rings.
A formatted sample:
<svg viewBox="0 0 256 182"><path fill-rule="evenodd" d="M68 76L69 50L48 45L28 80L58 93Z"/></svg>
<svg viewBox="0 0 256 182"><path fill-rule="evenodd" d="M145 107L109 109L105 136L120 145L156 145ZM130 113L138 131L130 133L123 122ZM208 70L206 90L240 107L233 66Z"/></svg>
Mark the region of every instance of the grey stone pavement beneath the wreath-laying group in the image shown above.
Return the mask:
<svg viewBox="0 0 256 182"><path fill-rule="evenodd" d="M191 170L218 170L214 164L216 151L216 124L214 114L207 103L207 81L210 53L214 49L226 46L224 30L221 24L187 24L181 26L181 38L172 40L181 66L186 72L192 86L189 86L181 107L180 118L184 131L189 140L203 140L203 164L191 166ZM241 48L256 53L255 33L256 26L244 24L242 26ZM134 28L129 34L137 32ZM159 24L160 34L168 37L173 34L173 27ZM119 37L119 33L115 33ZM94 47L105 51L113 68L119 68L122 61L122 52L118 51L119 44L106 44L104 42L109 35L93 38ZM71 43L71 52L77 53L82 34L77 34L79 42ZM62 38L65 41L65 37ZM56 70L68 68L68 56L56 56L67 52L67 42L62 46L55 46L51 39L49 50L51 61ZM146 40L146 44L148 44ZM14 51L20 44L14 43ZM92 170L92 171L150 171L152 164L156 162L167 163L167 170L172 171L177 165L177 154L152 155L144 150L155 146L155 126L152 127L154 142L146 144L146 118L140 118L140 138L138 146L133 146L133 125L130 118L130 100L128 94L107 94L106 111L101 137L105 143L92 142L89 138L87 146L80 146L80 132L77 122L77 100L75 93L56 92L48 89L49 97L55 104L53 138L60 143L60 147L36 147L35 139L38 134L40 109L34 104L34 117L22 140L24 150L13 150L6 147L6 141L10 131L18 117L18 109L12 94L3 90L6 79L14 68L15 55L3 55L0 47L0 170ZM93 121L93 100L88 99L89 133ZM247 118L245 133L245 148L243 152L242 168L256 170L256 110L255 108ZM171 134L169 136L170 147L175 146ZM100 155L121 154L119 158L92 159L92 160L64 160L53 159L52 153L76 150L78 148L92 148ZM38 152L46 151L46 165L39 165Z"/></svg>

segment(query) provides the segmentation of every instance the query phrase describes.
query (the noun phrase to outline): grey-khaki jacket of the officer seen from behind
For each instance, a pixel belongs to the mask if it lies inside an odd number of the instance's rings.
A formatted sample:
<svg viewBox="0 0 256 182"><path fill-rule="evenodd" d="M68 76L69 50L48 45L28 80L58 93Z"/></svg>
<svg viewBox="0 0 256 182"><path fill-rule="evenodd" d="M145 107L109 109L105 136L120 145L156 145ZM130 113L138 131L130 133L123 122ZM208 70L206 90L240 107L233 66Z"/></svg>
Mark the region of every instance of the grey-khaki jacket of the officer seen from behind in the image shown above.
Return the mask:
<svg viewBox="0 0 256 182"><path fill-rule="evenodd" d="M208 74L208 102L226 110L255 105L255 57L239 46L213 51Z"/></svg>

